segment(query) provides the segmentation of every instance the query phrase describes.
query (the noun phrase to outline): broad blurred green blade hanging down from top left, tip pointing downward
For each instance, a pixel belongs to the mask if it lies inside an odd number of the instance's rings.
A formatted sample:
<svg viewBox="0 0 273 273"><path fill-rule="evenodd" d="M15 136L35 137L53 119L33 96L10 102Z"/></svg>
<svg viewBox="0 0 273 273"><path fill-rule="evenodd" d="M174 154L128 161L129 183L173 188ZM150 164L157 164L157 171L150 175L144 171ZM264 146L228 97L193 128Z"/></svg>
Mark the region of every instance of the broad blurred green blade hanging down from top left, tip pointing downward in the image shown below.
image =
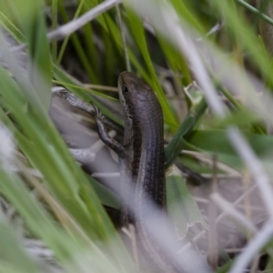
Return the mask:
<svg viewBox="0 0 273 273"><path fill-rule="evenodd" d="M51 56L46 38L43 2L37 0L13 1L15 13L25 35L30 60L28 77L35 91L37 103L49 110L51 98Z"/></svg>

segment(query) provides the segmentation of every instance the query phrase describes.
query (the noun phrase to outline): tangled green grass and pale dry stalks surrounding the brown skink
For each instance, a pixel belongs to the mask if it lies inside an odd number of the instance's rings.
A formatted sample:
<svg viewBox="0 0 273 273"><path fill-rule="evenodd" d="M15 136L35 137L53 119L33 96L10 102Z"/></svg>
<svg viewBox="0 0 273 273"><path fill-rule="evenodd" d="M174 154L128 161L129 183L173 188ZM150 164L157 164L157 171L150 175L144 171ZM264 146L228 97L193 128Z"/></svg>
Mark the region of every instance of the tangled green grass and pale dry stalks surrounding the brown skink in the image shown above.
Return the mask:
<svg viewBox="0 0 273 273"><path fill-rule="evenodd" d="M153 88L163 109L168 209L183 249L195 242L217 272L272 270L273 42L263 42L267 33L258 35L259 25L272 24L267 8L241 0L128 0L119 5L118 23L114 2L99 10L110 1L0 1L0 272L49 270L34 258L36 251L29 255L29 238L53 251L56 270L136 269L103 207L118 207L113 192L76 164L48 115L51 86L62 85L122 131L116 92L96 86L116 86L118 74L129 69ZM98 14L82 24L81 16L97 6ZM67 23L64 36L60 25ZM104 173L112 172L110 158L99 162ZM203 176L201 195L176 161ZM258 197L251 196L253 187ZM234 196L226 196L232 190ZM216 206L218 214L209 213ZM261 216L263 227L256 220ZM220 231L209 233L215 223L223 230L229 225L226 235L240 230L246 247L232 252Z"/></svg>

